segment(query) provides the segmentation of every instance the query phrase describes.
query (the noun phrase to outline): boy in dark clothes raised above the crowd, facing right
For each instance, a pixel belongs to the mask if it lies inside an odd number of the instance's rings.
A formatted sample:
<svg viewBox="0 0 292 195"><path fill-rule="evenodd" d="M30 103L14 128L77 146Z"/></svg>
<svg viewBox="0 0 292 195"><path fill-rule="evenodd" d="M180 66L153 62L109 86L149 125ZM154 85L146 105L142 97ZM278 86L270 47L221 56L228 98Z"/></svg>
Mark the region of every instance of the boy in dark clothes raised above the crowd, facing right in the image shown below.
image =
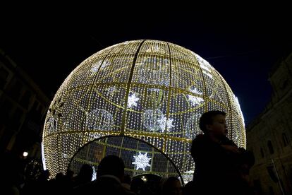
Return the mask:
<svg viewBox="0 0 292 195"><path fill-rule="evenodd" d="M250 194L245 181L254 163L251 153L226 137L226 113L209 111L199 122L190 153L195 160L193 185L197 194Z"/></svg>

